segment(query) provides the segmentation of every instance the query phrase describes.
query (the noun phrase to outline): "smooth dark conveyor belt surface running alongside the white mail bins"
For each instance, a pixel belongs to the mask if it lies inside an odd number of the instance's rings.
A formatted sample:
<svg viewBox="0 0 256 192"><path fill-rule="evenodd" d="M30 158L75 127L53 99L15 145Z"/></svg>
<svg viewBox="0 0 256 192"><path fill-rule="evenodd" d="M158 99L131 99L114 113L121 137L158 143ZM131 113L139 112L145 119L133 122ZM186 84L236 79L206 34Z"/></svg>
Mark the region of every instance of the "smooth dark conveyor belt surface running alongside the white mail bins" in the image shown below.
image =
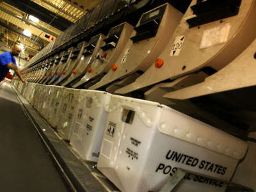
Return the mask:
<svg viewBox="0 0 256 192"><path fill-rule="evenodd" d="M8 83L0 84L0 190L68 191Z"/></svg>

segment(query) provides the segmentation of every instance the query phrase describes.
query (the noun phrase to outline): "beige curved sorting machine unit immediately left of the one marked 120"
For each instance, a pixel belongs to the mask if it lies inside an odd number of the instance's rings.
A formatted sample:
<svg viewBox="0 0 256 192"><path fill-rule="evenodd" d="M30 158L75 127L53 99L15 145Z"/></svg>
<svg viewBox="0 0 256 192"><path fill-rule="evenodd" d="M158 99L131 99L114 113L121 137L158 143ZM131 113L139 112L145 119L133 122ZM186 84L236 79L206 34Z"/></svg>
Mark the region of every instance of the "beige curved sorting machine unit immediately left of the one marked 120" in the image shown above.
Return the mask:
<svg viewBox="0 0 256 192"><path fill-rule="evenodd" d="M121 56L108 74L89 89L95 90L122 77L131 81L134 76L129 78L129 75L138 70L147 70L150 67L148 64L152 63L165 47L181 17L182 14L170 4L163 4L143 13Z"/></svg>

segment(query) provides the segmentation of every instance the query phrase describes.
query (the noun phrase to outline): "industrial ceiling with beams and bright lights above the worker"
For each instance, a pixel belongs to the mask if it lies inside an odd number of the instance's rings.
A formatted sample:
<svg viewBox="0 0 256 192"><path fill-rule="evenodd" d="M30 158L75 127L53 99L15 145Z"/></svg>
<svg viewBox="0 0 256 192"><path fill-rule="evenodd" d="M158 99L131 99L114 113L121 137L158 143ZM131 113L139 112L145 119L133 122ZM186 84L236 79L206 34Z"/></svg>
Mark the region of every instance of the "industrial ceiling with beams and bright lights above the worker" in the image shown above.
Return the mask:
<svg viewBox="0 0 256 192"><path fill-rule="evenodd" d="M0 41L1 46L12 47L15 42L24 45L24 54L34 56L42 47L49 44L79 20L102 0L4 0L0 1ZM39 19L29 19L32 15ZM23 31L31 31L26 36Z"/></svg>

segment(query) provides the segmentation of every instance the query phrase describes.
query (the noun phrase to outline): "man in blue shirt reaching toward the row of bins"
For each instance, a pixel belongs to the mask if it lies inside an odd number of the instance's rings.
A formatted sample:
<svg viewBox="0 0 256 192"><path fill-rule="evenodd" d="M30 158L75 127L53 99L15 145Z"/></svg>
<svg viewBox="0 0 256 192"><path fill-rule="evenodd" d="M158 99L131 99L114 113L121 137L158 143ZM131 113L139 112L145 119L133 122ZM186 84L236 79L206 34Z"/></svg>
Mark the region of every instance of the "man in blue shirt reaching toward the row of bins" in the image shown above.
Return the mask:
<svg viewBox="0 0 256 192"><path fill-rule="evenodd" d="M4 77L8 74L9 70L12 69L15 71L15 74L19 76L20 80L23 83L26 83L23 77L20 75L19 68L17 68L16 60L14 56L19 56L21 52L21 47L19 44L15 44L11 51L4 52L0 54L0 81L4 79Z"/></svg>

